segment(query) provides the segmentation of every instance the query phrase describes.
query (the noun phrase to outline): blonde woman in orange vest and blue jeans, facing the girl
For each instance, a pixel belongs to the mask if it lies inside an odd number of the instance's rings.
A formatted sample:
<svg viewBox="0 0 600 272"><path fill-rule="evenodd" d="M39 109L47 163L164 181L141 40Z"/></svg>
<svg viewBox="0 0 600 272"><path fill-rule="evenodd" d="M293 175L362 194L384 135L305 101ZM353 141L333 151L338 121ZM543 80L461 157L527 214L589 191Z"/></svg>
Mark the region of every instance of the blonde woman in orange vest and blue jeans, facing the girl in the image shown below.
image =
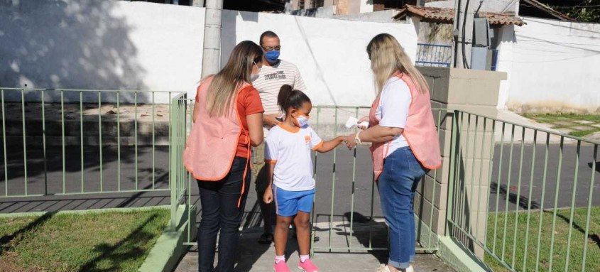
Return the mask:
<svg viewBox="0 0 600 272"><path fill-rule="evenodd" d="M347 136L347 146L372 143L381 210L390 228L388 263L378 272L413 272L413 197L423 175L442 163L429 87L393 36L375 36L366 52L377 96L369 116L359 120L369 120L369 128Z"/></svg>

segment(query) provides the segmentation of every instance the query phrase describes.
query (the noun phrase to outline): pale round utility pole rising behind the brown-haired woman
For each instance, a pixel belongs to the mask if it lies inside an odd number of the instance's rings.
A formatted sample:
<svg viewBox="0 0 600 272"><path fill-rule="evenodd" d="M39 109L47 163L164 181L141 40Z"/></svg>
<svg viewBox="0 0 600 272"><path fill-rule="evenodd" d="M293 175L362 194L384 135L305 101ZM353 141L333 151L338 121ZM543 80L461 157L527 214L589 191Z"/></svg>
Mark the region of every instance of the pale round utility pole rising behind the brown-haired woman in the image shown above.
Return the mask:
<svg viewBox="0 0 600 272"><path fill-rule="evenodd" d="M202 78L219 72L221 60L221 13L223 0L207 0L204 18Z"/></svg>

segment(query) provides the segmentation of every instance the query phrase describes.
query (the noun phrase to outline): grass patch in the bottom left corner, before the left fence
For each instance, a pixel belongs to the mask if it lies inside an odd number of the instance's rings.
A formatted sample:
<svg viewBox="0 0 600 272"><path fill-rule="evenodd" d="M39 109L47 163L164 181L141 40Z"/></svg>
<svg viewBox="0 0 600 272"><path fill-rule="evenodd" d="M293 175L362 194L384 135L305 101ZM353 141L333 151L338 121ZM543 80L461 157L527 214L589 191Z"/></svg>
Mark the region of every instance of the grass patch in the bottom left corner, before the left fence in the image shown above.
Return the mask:
<svg viewBox="0 0 600 272"><path fill-rule="evenodd" d="M168 219L165 209L0 218L0 271L137 271Z"/></svg>

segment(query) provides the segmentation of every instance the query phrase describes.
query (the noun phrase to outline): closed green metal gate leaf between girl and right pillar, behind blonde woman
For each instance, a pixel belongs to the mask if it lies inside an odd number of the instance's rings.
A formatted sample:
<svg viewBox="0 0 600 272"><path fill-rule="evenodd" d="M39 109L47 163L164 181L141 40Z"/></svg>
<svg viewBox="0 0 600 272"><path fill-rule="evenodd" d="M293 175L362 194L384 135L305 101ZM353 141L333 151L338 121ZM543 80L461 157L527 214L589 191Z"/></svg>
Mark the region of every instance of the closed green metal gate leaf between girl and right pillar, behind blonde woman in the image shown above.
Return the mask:
<svg viewBox="0 0 600 272"><path fill-rule="evenodd" d="M340 121L342 124L345 123L345 120L349 116L354 116L356 118L360 118L361 116L366 116L369 112L369 107L337 107L337 106L317 106L317 114L316 114L316 130L318 134L330 135L332 137L338 135L347 135L356 131L349 131L344 128L343 125L340 125ZM447 110L446 109L433 109L433 115L435 117L435 121L437 124L438 130L442 127L442 123L447 118ZM329 120L327 120L329 119ZM325 123L325 124L324 124ZM342 133L340 133L340 131ZM322 156L327 156L326 154L318 154L315 153L314 162L315 163L315 181L317 183L317 187L319 187L322 183L327 183L328 180L331 180L331 187L324 185L324 187L320 187L315 193L315 200L320 198L321 191L327 192L331 191L329 195L330 201L330 210L328 214L318 214L317 212L312 212L312 222L317 226L321 223L319 217L327 218L327 241L326 245L322 246L319 244L318 246L314 244L314 237L317 234L317 228L313 228L312 230L312 239L311 239L311 254L315 252L344 252L344 251L374 251L374 250L388 250L388 237L387 237L387 227L383 223L383 217L381 214L376 216L374 214L374 208L378 207L378 202L376 199L378 198L378 193L376 194L376 183L373 180L373 172L371 168L371 154L364 153L358 154L358 148L354 148L351 151L351 160L348 161L338 161L338 150L334 149L332 153L331 163L326 165L328 162L323 162L320 160ZM345 152L345 151L344 151ZM351 163L351 168L342 169L342 163ZM317 167L319 166L319 167ZM362 166L359 170L357 166ZM350 171L351 175L344 175L344 179L339 178L339 171ZM362 173L361 173L362 171ZM366 171L366 173L365 173ZM439 173L438 173L439 172ZM418 190L418 194L415 195L415 215L418 217L417 222L421 224L417 224L418 228L425 224L425 226L431 228L433 226L434 218L434 210L435 205L430 205L429 209L425 210L422 207L422 203L424 201L431 201L430 199L425 200L425 179L429 178L432 180L438 180L441 176L441 170L433 170L428 173L423 180L420 182L420 190ZM337 190L341 190L342 187L339 186L339 183L351 183L350 190L346 192L337 192ZM366 195L361 194L357 188L365 188L368 187L369 192ZM326 189L326 190L323 190ZM429 188L427 188L429 190ZM436 186L432 186L432 195L435 195ZM343 196L340 196L340 195ZM326 195L327 197L327 195ZM357 207L356 200L363 200L366 197L368 198L369 206ZM317 203L315 202L315 206ZM416 205L420 205L420 207L416 207ZM338 206L342 206L340 209ZM357 208L361 208L359 212L356 212ZM339 215L339 212L346 214L345 216ZM364 222L359 222L355 224L355 215L357 217L362 217L361 212L369 212L368 216L364 216ZM426 215L428 214L428 215ZM339 246L334 245L332 243L332 235L334 235L334 229L337 228L334 223L334 218L342 218L344 221L347 221L348 231L345 232L347 245ZM361 228L366 229L362 230L360 233L361 237L356 237L354 234L356 225L359 225ZM425 232L426 236L418 236L418 243L422 246L417 248L418 251L436 251L437 245L433 242L435 239L435 234L432 232ZM337 233L337 235L340 235ZM385 236L383 239L374 239L376 236ZM359 241L355 241L355 238ZM378 241L376 241L378 240ZM360 246L356 246L356 244L360 243ZM378 244L378 245L376 245Z"/></svg>

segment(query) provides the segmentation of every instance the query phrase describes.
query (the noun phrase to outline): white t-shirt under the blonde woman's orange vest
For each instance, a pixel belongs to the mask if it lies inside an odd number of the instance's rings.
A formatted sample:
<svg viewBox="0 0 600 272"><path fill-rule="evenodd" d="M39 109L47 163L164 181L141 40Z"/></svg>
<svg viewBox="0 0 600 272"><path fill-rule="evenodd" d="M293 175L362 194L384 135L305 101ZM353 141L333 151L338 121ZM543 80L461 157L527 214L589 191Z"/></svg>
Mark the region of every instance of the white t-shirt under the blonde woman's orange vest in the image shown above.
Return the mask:
<svg viewBox="0 0 600 272"><path fill-rule="evenodd" d="M413 97L410 95L410 88L406 82L398 77L391 77L386 84L383 85L381 96L379 97L379 107L377 107L376 116L380 126L390 128L404 129L406 119L408 118L408 107ZM396 151L398 148L408 146L408 142L402 134L392 139L388 155Z"/></svg>

